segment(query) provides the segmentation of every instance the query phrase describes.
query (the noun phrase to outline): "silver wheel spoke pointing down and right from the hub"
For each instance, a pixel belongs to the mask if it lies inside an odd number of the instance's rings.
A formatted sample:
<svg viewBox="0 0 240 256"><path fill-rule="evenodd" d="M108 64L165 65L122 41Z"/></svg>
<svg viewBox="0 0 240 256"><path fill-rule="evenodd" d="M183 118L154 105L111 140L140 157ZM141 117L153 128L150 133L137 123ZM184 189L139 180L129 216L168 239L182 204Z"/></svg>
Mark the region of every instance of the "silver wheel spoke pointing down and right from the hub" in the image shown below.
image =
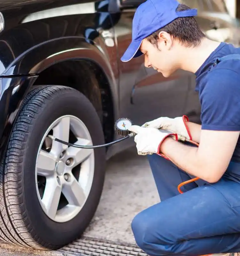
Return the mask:
<svg viewBox="0 0 240 256"><path fill-rule="evenodd" d="M71 205L82 206L86 198L83 188L73 175L70 176L70 181L63 185L62 193Z"/></svg>

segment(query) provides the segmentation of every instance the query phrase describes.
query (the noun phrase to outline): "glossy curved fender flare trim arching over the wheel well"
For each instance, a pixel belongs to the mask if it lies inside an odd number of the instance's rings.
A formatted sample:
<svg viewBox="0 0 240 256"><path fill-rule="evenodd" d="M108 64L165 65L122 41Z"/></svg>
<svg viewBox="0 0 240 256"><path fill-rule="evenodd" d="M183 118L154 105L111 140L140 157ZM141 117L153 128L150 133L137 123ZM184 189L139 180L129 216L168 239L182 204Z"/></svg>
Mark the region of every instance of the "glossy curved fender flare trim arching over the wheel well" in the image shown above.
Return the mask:
<svg viewBox="0 0 240 256"><path fill-rule="evenodd" d="M107 76L113 95L116 93L116 80L107 54L91 40L84 37L68 36L54 38L37 44L18 56L4 70L0 77L21 74L37 75L44 69L64 60L85 59L95 62Z"/></svg>

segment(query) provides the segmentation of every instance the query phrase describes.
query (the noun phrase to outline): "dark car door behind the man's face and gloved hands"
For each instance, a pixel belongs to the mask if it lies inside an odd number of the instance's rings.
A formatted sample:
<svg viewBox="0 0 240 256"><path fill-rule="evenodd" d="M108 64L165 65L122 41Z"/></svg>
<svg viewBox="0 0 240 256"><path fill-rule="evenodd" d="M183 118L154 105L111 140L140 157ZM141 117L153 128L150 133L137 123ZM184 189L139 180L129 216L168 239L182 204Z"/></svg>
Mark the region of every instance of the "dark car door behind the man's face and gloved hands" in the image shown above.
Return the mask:
<svg viewBox="0 0 240 256"><path fill-rule="evenodd" d="M119 115L129 117L139 125L159 116L175 117L185 114L189 88L189 78L182 70L165 78L153 68L144 66L143 55L129 62L120 60L132 39L135 10L143 2L121 0L121 16L114 26L119 60Z"/></svg>

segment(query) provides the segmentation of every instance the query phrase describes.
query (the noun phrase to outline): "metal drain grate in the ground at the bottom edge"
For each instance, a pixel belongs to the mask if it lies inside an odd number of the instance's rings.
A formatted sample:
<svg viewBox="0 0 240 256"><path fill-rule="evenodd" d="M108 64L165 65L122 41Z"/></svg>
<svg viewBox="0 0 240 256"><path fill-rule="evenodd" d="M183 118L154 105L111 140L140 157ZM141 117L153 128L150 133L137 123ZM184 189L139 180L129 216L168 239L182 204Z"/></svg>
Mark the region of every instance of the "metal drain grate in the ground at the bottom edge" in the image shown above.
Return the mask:
<svg viewBox="0 0 240 256"><path fill-rule="evenodd" d="M133 244L122 244L108 240L83 237L59 250L66 255L94 255L94 256L147 256L138 246Z"/></svg>

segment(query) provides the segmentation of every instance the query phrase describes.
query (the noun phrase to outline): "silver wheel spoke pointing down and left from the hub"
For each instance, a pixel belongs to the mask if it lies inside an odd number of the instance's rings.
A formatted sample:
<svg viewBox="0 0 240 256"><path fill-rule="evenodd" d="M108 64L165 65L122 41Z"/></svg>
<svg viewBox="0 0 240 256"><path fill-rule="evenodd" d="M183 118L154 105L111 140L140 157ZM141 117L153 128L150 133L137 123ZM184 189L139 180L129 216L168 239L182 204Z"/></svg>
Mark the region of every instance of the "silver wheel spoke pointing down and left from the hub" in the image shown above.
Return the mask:
<svg viewBox="0 0 240 256"><path fill-rule="evenodd" d="M56 177L46 179L46 188L42 203L44 204L46 214L54 219L57 213L62 187L57 182Z"/></svg>

